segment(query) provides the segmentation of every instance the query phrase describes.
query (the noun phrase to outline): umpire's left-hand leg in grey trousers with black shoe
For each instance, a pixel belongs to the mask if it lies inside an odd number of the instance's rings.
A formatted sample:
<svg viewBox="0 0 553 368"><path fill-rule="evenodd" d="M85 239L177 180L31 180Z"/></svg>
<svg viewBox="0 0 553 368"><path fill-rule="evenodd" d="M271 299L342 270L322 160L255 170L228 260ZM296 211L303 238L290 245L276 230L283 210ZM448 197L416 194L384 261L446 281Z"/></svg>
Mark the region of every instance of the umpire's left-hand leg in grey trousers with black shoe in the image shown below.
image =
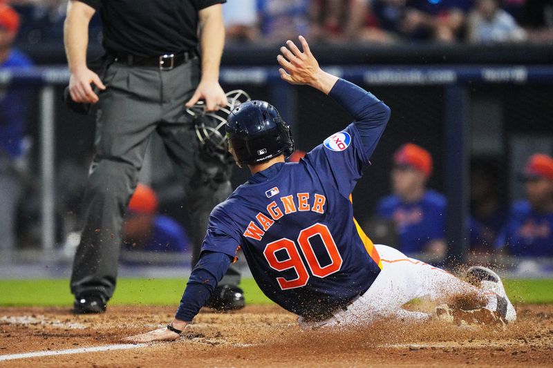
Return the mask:
<svg viewBox="0 0 553 368"><path fill-rule="evenodd" d="M124 211L160 115L155 70L112 64L104 80L108 88L100 95L84 227L71 275L76 313L99 313L113 295Z"/></svg>

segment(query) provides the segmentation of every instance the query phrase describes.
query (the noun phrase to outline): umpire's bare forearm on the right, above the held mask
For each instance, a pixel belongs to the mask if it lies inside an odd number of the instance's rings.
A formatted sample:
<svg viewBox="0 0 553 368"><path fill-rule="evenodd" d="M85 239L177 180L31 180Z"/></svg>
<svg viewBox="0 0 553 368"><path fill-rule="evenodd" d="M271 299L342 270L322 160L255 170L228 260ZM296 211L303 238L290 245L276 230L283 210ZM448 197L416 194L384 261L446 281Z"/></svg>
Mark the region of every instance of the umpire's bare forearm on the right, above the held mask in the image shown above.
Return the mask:
<svg viewBox="0 0 553 368"><path fill-rule="evenodd" d="M200 10L202 80L218 81L224 46L225 26L223 25L221 4Z"/></svg>

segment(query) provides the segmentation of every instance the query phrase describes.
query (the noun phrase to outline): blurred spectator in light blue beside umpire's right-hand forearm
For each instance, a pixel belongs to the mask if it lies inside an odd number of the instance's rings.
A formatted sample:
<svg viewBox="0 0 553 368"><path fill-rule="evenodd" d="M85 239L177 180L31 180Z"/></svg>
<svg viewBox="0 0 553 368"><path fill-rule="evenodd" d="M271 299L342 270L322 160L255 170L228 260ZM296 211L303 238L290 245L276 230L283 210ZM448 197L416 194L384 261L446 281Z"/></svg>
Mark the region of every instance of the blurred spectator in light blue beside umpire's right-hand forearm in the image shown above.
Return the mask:
<svg viewBox="0 0 553 368"><path fill-rule="evenodd" d="M223 4L223 19L229 41L254 41L257 30L256 0L232 0Z"/></svg>

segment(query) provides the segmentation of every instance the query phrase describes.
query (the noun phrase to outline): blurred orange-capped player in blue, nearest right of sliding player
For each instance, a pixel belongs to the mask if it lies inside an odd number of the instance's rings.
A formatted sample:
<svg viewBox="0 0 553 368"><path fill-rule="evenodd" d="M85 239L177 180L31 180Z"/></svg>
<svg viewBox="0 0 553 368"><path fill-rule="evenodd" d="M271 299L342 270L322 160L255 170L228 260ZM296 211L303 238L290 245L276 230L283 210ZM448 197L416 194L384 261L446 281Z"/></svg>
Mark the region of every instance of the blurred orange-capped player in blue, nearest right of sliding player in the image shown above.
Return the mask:
<svg viewBox="0 0 553 368"><path fill-rule="evenodd" d="M393 220L403 253L444 258L446 200L426 188L433 166L430 153L415 144L404 144L393 162L393 195L379 202L377 215Z"/></svg>

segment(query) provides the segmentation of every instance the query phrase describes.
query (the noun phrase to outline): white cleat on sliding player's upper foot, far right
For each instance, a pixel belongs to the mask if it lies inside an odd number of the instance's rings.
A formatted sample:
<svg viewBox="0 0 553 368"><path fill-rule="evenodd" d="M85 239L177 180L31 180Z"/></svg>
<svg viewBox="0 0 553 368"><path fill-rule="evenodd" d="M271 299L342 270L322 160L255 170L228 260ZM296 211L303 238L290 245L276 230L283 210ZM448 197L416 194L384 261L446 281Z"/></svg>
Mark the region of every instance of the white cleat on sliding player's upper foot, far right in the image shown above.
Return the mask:
<svg viewBox="0 0 553 368"><path fill-rule="evenodd" d="M501 318L505 322L512 323L516 321L516 311L509 298L507 298L505 287L503 287L503 282L501 282L497 273L487 267L474 266L467 271L467 282L484 291L496 293L498 296L497 311Z"/></svg>

